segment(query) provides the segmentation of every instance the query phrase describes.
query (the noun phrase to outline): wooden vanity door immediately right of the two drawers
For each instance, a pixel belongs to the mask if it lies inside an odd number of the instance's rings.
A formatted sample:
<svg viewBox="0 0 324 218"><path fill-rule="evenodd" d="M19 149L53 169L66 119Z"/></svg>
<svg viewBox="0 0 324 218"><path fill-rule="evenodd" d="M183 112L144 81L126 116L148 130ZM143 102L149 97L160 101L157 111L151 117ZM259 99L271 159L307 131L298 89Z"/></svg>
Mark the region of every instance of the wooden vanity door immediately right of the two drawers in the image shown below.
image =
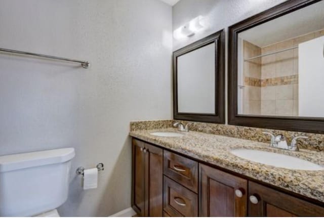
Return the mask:
<svg viewBox="0 0 324 218"><path fill-rule="evenodd" d="M247 216L247 180L204 164L199 180L199 216Z"/></svg>

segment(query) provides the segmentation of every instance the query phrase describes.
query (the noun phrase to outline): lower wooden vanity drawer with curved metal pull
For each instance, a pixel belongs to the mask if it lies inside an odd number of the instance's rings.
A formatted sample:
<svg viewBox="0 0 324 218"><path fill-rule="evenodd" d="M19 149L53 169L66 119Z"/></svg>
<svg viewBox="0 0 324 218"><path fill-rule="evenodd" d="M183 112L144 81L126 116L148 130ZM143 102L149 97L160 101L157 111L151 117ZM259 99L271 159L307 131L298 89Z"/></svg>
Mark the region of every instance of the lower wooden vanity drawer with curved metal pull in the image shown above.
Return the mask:
<svg viewBox="0 0 324 218"><path fill-rule="evenodd" d="M170 216L198 216L198 196L164 176L163 207Z"/></svg>

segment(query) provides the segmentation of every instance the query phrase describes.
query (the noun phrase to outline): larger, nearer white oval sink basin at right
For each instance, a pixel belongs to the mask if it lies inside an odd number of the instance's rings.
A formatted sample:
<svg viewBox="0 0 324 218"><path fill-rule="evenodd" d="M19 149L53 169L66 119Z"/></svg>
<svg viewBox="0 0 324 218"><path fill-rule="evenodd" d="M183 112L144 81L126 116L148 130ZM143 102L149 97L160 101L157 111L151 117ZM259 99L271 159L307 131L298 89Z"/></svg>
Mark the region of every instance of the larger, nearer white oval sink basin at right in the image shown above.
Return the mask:
<svg viewBox="0 0 324 218"><path fill-rule="evenodd" d="M267 151L237 149L232 154L258 163L297 170L322 170L324 167L297 157Z"/></svg>

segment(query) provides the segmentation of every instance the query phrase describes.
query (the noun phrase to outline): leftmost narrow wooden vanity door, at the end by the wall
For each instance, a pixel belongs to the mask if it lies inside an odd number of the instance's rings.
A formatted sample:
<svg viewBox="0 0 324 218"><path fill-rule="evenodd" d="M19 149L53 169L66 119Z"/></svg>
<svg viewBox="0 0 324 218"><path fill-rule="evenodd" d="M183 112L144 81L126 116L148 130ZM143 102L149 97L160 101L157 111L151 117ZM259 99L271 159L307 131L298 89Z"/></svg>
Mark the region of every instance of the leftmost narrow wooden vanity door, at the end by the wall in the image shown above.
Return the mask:
<svg viewBox="0 0 324 218"><path fill-rule="evenodd" d="M139 216L144 216L145 203L145 143L133 139L132 145L132 205Z"/></svg>

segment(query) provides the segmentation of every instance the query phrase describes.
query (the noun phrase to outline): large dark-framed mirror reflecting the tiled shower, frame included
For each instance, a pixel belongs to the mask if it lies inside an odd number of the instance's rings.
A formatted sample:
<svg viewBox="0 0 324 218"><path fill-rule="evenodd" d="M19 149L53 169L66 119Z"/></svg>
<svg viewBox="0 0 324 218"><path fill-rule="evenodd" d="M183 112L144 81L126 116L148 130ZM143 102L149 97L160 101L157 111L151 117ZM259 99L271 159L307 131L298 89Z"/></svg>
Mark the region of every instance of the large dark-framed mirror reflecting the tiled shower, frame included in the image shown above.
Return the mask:
<svg viewBox="0 0 324 218"><path fill-rule="evenodd" d="M229 27L229 124L324 133L323 15L291 0Z"/></svg>

